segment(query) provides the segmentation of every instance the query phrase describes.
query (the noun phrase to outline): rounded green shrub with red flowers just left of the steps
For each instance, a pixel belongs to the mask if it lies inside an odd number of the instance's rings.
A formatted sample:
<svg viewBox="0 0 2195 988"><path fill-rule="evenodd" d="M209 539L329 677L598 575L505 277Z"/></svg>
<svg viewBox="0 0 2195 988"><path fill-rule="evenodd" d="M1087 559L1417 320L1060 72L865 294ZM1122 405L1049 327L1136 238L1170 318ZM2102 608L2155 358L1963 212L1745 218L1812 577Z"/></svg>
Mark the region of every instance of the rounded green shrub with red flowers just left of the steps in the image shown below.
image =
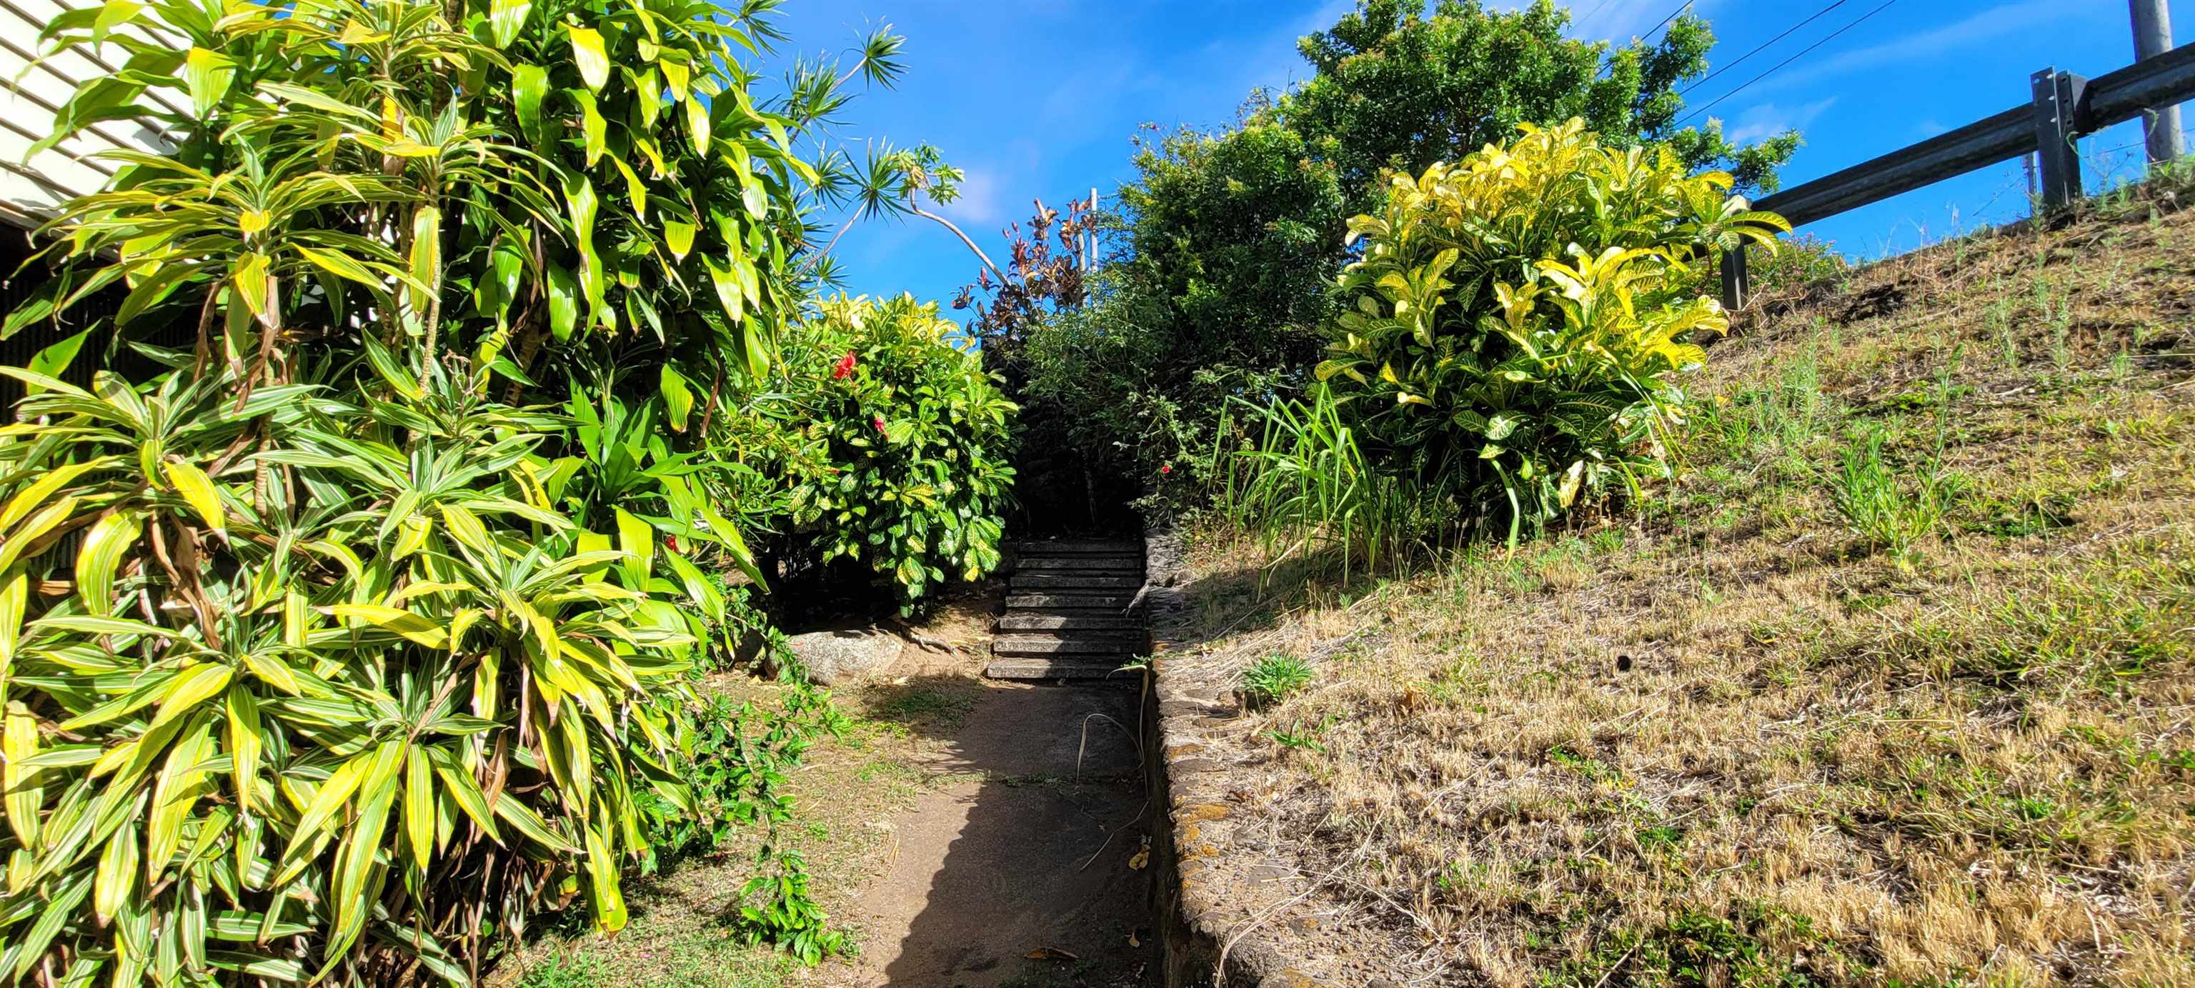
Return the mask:
<svg viewBox="0 0 2195 988"><path fill-rule="evenodd" d="M999 566L1014 404L955 347L937 305L836 299L788 329L784 527L821 560L854 558L909 604Z"/></svg>

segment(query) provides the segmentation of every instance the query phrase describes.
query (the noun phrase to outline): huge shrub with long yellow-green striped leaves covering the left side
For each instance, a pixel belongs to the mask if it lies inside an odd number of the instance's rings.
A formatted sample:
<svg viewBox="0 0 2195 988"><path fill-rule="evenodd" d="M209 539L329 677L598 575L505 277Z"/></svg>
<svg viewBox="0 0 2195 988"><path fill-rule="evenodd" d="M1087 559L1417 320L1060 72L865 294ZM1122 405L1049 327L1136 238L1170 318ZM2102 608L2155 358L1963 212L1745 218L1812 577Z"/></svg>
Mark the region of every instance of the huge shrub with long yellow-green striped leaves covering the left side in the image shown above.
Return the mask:
<svg viewBox="0 0 2195 988"><path fill-rule="evenodd" d="M127 57L50 141L178 147L64 209L68 272L0 336L110 288L116 338L195 345L88 391L7 369L0 977L470 984L538 907L626 922L643 793L689 806L694 560L744 555L683 481L691 382L768 369L790 147L838 99L746 92L768 7L48 24Z"/></svg>

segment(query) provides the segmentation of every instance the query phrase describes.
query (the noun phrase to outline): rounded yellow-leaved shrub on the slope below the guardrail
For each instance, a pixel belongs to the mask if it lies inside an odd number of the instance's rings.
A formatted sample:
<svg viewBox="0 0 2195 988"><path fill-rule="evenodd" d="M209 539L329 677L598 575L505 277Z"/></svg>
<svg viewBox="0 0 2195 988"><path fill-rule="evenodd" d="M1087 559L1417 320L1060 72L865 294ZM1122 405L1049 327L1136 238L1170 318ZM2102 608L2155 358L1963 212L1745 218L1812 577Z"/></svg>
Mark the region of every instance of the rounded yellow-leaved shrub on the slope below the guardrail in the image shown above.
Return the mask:
<svg viewBox="0 0 2195 988"><path fill-rule="evenodd" d="M1521 127L1350 220L1363 259L1330 323L1332 382L1381 470L1457 498L1464 518L1534 531L1618 481L1666 472L1675 375L1714 299L1670 277L1787 228L1686 176L1666 149L1605 149L1583 121Z"/></svg>

